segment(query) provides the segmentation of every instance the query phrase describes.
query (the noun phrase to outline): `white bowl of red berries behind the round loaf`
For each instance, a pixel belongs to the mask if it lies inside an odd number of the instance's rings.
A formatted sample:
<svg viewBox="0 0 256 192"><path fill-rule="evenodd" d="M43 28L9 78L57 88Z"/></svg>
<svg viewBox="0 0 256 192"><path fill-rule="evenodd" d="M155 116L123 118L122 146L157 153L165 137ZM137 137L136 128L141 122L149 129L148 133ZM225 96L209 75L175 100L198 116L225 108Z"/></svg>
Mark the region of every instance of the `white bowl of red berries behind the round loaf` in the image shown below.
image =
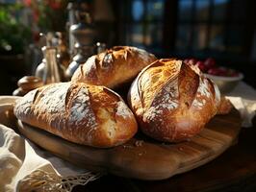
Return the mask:
<svg viewBox="0 0 256 192"><path fill-rule="evenodd" d="M243 80L243 74L227 67L219 66L216 60L187 59L184 62L197 66L204 75L218 85L220 92L228 93Z"/></svg>

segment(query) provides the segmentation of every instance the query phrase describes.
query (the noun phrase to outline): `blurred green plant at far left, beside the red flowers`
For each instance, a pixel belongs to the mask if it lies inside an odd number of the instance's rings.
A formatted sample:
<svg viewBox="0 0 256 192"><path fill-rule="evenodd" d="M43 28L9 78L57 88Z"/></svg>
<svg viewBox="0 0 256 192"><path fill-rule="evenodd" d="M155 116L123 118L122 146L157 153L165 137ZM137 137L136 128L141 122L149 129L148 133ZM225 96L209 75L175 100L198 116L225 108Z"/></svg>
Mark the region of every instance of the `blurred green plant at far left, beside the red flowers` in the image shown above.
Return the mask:
<svg viewBox="0 0 256 192"><path fill-rule="evenodd" d="M24 53L30 41L31 30L22 23L22 4L0 3L0 53Z"/></svg>

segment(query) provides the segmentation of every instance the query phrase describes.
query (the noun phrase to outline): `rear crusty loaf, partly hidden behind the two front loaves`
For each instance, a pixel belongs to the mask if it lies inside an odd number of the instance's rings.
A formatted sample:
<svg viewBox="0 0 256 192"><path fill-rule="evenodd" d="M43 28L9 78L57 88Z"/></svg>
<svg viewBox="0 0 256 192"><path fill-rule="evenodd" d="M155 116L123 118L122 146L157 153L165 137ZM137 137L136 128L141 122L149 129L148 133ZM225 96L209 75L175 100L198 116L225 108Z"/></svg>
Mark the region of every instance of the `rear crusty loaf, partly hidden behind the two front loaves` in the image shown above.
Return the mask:
<svg viewBox="0 0 256 192"><path fill-rule="evenodd" d="M71 81L114 88L132 81L142 68L155 60L154 55L136 47L115 46L90 57L75 71Z"/></svg>

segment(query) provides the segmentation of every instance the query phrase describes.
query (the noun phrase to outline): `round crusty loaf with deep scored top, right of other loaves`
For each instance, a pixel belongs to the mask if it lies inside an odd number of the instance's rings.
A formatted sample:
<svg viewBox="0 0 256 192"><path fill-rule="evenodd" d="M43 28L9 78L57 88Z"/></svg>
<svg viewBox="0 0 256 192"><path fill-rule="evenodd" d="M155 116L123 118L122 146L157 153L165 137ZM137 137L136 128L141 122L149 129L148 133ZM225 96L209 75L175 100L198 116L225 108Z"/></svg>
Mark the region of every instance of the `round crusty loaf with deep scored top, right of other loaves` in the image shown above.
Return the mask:
<svg viewBox="0 0 256 192"><path fill-rule="evenodd" d="M128 102L141 131L168 142L189 139L217 113L216 84L181 60L157 60L132 84Z"/></svg>

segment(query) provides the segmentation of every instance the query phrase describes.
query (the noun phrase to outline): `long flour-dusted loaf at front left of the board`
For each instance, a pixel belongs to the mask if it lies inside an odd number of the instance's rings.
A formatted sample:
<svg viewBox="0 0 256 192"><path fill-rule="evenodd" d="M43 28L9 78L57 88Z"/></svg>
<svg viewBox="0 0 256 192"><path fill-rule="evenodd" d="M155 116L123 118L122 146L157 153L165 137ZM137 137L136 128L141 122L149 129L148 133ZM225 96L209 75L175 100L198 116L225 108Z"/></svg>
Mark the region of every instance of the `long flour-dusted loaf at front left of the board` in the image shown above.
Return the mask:
<svg viewBox="0 0 256 192"><path fill-rule="evenodd" d="M104 86L45 85L18 100L14 114L29 125L93 147L122 144L137 132L132 111Z"/></svg>

